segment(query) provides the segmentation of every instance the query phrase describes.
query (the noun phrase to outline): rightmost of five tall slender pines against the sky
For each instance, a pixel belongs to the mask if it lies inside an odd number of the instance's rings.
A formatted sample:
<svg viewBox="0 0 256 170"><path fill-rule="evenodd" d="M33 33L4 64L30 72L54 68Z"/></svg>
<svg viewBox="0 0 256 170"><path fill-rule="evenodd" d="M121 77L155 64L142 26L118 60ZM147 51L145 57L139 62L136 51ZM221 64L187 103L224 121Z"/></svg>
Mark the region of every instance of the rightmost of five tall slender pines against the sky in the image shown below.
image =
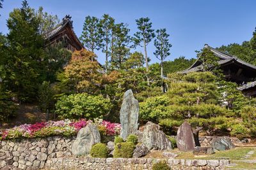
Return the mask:
<svg viewBox="0 0 256 170"><path fill-rule="evenodd" d="M169 43L168 37L169 34L166 33L166 29L157 29L156 39L154 40L154 45L156 46L156 55L157 59L161 60L161 78L163 79L163 60L170 55L170 48L172 45ZM164 92L164 83L162 83L162 90Z"/></svg>

